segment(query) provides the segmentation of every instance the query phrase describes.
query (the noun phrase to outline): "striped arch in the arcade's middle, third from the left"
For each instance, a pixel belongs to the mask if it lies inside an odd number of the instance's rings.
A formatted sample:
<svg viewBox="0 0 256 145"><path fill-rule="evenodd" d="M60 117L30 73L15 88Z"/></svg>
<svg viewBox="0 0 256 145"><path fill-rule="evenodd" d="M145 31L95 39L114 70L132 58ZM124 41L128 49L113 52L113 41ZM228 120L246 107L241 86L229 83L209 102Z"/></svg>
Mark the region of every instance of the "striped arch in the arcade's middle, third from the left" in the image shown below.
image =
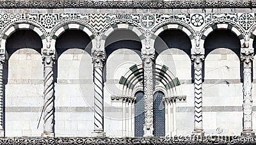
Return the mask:
<svg viewBox="0 0 256 145"><path fill-rule="evenodd" d="M102 34L102 39L101 39L101 43L100 43L100 50L104 50L105 49L105 42L108 38L108 36L110 36L110 34L112 34L114 31L117 31L119 29L127 29L132 31L133 33L135 33L141 40L141 49L146 47L146 40L145 40L145 36L144 34L141 32L140 29L138 29L135 26L132 26L131 24L116 24L113 25L111 27L109 27L103 34Z"/></svg>

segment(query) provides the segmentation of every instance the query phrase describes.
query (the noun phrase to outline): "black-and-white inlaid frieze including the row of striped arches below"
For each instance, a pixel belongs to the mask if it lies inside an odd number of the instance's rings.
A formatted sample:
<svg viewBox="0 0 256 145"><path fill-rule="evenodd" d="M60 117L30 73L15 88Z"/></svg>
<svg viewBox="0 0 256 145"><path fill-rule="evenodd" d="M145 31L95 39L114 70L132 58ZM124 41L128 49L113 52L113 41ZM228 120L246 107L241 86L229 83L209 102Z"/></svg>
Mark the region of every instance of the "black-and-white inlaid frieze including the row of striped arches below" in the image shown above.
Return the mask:
<svg viewBox="0 0 256 145"><path fill-rule="evenodd" d="M148 55L154 54L154 42L166 29L184 32L191 40L191 54L204 54L204 40L212 31L230 30L237 35L241 46L246 42L252 47L255 27L255 13L1 13L0 53L5 54L6 39L19 29L35 31L42 38L43 47L47 45L52 49L58 36L66 30L81 30L92 39L93 49L101 51L104 51L105 42L113 31L127 29L137 34L143 48L141 52Z"/></svg>

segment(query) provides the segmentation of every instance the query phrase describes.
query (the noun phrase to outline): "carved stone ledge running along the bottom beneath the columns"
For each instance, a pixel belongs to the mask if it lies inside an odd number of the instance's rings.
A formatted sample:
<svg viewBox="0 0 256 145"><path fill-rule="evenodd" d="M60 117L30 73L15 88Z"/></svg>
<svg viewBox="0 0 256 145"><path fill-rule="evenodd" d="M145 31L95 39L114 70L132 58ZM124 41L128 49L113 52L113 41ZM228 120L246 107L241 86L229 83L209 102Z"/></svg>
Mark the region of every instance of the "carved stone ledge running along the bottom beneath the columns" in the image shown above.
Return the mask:
<svg viewBox="0 0 256 145"><path fill-rule="evenodd" d="M0 144L255 144L255 137L3 137Z"/></svg>

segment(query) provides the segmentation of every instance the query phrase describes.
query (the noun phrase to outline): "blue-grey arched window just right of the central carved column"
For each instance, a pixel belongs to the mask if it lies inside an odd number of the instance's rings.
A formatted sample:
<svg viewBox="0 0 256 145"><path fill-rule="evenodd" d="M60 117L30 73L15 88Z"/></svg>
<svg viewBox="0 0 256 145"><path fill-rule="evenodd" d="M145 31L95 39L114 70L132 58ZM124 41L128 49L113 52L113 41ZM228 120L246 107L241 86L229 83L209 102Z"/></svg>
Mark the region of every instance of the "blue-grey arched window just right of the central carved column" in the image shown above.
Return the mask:
<svg viewBox="0 0 256 145"><path fill-rule="evenodd" d="M153 120L154 120L154 137L164 137L165 120L164 120L164 93L157 91L154 93L153 103Z"/></svg>

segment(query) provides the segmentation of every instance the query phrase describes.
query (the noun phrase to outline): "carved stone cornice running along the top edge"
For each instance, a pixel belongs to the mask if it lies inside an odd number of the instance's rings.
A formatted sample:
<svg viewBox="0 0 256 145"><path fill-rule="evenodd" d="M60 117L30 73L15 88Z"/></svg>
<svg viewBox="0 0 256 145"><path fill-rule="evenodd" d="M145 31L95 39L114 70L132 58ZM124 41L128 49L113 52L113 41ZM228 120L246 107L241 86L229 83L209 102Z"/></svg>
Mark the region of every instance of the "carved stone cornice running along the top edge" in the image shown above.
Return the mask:
<svg viewBox="0 0 256 145"><path fill-rule="evenodd" d="M1 1L0 8L256 8L255 1Z"/></svg>

